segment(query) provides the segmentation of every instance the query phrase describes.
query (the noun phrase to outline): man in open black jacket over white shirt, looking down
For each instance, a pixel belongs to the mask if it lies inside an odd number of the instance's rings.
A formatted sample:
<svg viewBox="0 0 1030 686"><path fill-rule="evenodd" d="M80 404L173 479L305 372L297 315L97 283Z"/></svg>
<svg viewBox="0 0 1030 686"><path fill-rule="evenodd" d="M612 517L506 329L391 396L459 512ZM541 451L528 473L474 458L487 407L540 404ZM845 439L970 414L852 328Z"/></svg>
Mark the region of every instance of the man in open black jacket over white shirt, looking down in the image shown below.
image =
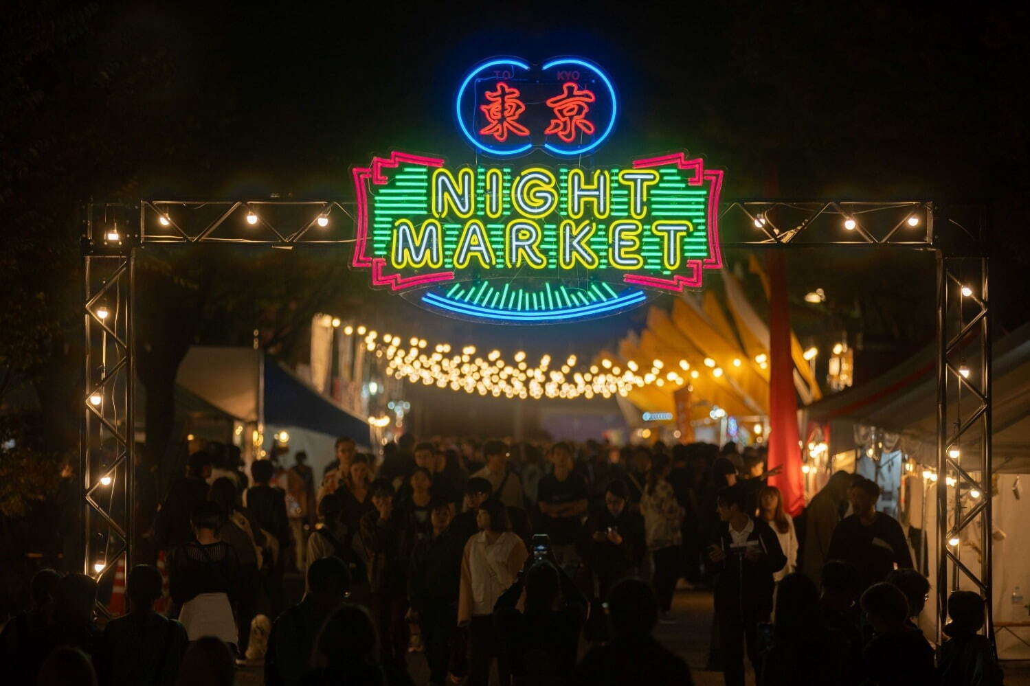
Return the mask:
<svg viewBox="0 0 1030 686"><path fill-rule="evenodd" d="M756 674L760 671L757 628L772 612L772 574L787 557L776 533L748 511L748 494L740 486L719 491L716 499L722 522L718 543L709 546L709 559L718 574L715 613L722 638L726 686L744 686L744 643ZM761 679L757 680L759 683Z"/></svg>

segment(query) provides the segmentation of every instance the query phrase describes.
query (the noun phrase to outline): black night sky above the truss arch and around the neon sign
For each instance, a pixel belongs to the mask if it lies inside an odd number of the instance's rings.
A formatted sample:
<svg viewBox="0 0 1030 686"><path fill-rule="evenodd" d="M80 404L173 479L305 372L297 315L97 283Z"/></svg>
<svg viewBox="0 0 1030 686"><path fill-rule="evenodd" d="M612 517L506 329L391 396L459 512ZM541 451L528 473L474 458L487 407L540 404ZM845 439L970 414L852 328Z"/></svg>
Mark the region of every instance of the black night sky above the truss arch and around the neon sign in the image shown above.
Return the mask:
<svg viewBox="0 0 1030 686"><path fill-rule="evenodd" d="M19 3L8 35L18 35L22 20L37 28L63 21L73 6ZM349 200L350 167L374 153L426 152L452 166L474 161L450 110L472 65L499 55L536 63L582 55L608 70L622 103L595 164L687 150L725 170L725 198L983 203L993 221L997 322L1007 330L1028 317L1022 12L968 4L924 12L861 1L605 9L113 2L87 5L81 21L84 30L66 43L25 48L19 74L43 101L31 121L4 133L14 150L32 136L55 137L89 162L44 156L28 163L28 180L15 178L8 199L23 209L56 200L70 216L75 202L90 198ZM530 161L553 164L542 152ZM827 319L801 302L817 286L837 299L842 313L859 306L874 312L864 319L876 329L869 334L894 356L932 336L927 255L827 254L789 258L802 340L828 335ZM289 256L308 259L303 251ZM367 283L365 274L345 274L329 309L403 336L483 348L590 354L639 330L646 313L485 327L425 313ZM208 340L249 335L239 329Z"/></svg>

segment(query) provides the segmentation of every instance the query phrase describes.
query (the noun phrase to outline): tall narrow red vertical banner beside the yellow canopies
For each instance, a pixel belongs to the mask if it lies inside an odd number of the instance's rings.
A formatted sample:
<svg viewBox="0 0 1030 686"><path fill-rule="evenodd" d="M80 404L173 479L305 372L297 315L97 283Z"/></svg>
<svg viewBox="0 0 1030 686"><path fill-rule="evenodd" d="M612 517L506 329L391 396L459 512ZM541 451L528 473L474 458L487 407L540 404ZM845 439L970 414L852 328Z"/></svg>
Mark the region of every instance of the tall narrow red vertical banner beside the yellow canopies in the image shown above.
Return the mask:
<svg viewBox="0 0 1030 686"><path fill-rule="evenodd" d="M768 469L783 471L769 477L769 485L783 493L784 509L796 516L804 507L794 362L790 352L790 312L787 308L787 270L783 251L768 253L769 278L769 456Z"/></svg>

